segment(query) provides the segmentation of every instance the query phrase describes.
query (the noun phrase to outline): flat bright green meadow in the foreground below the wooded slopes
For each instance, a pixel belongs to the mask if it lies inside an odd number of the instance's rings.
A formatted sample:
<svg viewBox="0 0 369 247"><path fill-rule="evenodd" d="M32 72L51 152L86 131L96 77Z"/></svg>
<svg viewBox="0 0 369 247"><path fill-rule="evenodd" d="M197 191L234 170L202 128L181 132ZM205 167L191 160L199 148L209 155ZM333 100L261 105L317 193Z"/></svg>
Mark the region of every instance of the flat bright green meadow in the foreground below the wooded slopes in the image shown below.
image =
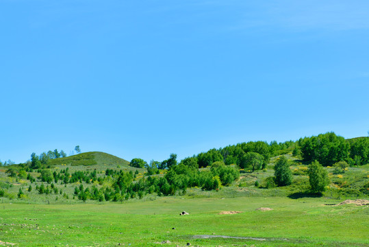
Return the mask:
<svg viewBox="0 0 369 247"><path fill-rule="evenodd" d="M369 246L369 207L326 205L338 202L177 196L101 204L3 203L0 240L15 246ZM273 210L256 211L259 207ZM190 215L179 216L181 211Z"/></svg>

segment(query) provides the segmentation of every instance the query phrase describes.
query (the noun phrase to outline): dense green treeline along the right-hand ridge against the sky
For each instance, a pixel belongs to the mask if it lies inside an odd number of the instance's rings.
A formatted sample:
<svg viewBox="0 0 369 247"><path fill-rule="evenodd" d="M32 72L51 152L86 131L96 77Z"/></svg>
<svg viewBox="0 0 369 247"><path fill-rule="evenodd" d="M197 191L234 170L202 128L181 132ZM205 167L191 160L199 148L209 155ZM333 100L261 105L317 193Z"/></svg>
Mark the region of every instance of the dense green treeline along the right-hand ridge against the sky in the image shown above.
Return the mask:
<svg viewBox="0 0 369 247"><path fill-rule="evenodd" d="M318 161L323 166L333 165L339 161L345 161L351 166L364 165L369 163L369 138L363 137L348 141L334 132L328 132L283 143L272 141L268 144L265 141L249 141L201 152L184 158L181 163L197 169L222 161L225 165L238 165L241 169L254 172L257 169L264 169L270 157L290 152L294 156L301 156L306 163ZM176 158L176 154L170 154L168 160L151 161L150 164L141 158L133 158L131 166L146 167L155 173L157 169L170 169L171 166L176 165Z"/></svg>

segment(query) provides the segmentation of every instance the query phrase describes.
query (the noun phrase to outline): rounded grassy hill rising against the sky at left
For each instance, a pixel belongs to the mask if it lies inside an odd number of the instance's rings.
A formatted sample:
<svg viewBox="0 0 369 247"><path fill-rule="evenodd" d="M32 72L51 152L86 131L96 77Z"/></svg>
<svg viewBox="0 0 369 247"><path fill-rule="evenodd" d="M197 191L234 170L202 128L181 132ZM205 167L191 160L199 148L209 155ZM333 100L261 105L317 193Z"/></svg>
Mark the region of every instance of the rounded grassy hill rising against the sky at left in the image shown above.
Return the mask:
<svg viewBox="0 0 369 247"><path fill-rule="evenodd" d="M65 158L55 158L49 161L49 165L120 165L128 166L129 161L123 158L118 158L112 154L107 154L104 152L85 152L81 154L76 154L73 156L68 156Z"/></svg>

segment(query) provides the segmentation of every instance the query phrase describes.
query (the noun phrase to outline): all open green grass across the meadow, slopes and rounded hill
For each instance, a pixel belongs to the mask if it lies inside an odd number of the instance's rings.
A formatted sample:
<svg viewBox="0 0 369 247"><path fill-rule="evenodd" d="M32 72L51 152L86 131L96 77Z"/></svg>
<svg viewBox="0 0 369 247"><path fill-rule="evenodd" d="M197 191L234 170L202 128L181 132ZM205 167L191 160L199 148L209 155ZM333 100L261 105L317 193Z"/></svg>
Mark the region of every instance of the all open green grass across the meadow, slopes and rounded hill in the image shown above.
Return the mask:
<svg viewBox="0 0 369 247"><path fill-rule="evenodd" d="M307 165L291 154L293 183L286 187L266 188L266 178L273 176L279 156L271 158L266 169L253 173L240 170L240 179L219 191L188 188L182 195L163 197L147 194L139 200L123 202L82 202L74 198L80 183L55 183L58 193L40 194L36 183L9 177L0 169L0 244L14 246L369 246L369 206L346 204L333 206L346 199L369 199L368 193L355 193L368 187L369 165L348 167L340 174L326 167L331 183L323 196L307 193ZM82 161L94 161L94 165ZM58 162L56 162L58 161ZM109 154L92 152L58 158L51 171L68 167L70 172L105 169L136 172L127 161ZM75 163L77 162L77 163ZM209 169L209 168L203 168ZM165 172L165 171L162 171ZM38 178L37 171L31 175ZM155 176L163 176L155 175ZM255 186L255 182L259 186ZM43 183L47 186L47 183ZM86 187L92 184L86 184ZM31 185L33 189L27 191ZM110 187L112 180L97 187ZM25 195L17 198L19 189ZM65 197L64 194L68 195ZM269 207L272 211L256 211ZM190 215L179 216L181 211ZM220 215L220 211L241 211ZM233 238L223 238L223 237ZM204 238L207 237L207 238ZM6 244L5 244L6 245ZM10 245L10 244L8 244Z"/></svg>

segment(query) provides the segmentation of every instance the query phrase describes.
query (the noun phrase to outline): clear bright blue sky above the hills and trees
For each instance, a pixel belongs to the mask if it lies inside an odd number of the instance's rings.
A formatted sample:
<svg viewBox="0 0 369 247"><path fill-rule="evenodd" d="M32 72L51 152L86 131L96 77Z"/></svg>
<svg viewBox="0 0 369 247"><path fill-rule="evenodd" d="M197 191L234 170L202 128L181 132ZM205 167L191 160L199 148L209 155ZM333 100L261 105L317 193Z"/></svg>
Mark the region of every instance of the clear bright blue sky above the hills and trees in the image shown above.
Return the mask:
<svg viewBox="0 0 369 247"><path fill-rule="evenodd" d="M0 0L0 160L369 130L369 2Z"/></svg>

